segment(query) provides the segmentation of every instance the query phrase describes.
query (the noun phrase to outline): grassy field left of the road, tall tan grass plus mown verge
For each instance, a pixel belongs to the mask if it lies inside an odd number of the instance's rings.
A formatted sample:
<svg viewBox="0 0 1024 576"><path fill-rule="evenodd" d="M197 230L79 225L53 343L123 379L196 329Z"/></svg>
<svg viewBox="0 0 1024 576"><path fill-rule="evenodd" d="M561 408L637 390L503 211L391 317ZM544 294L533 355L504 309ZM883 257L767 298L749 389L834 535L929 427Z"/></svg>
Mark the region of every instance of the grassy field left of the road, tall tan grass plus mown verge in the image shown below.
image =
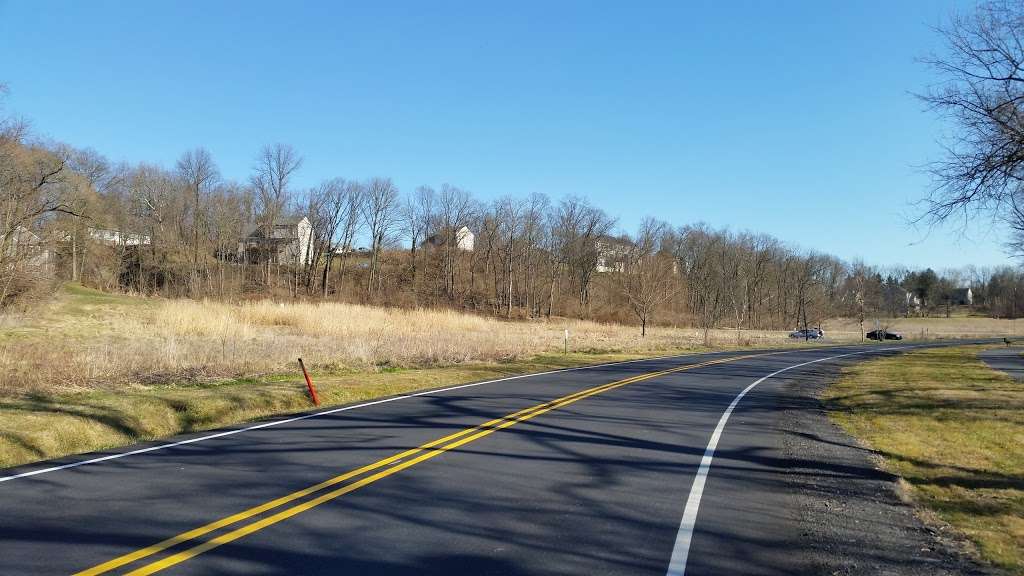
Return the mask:
<svg viewBox="0 0 1024 576"><path fill-rule="evenodd" d="M568 329L569 354L561 354ZM735 333L713 333L714 347ZM744 345L786 342L743 332ZM505 375L706 349L692 329L503 322L347 304L225 304L67 287L0 317L0 467ZM801 342L795 344L802 345Z"/></svg>

